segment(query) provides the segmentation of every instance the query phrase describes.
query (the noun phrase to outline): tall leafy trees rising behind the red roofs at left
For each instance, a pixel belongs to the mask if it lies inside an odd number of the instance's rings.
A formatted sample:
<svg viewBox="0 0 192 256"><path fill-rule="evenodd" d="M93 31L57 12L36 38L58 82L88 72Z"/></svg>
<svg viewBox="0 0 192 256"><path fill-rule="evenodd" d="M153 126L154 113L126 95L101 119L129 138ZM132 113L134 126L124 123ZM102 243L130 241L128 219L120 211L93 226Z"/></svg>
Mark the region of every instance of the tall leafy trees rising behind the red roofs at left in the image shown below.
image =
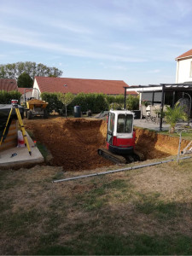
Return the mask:
<svg viewBox="0 0 192 256"><path fill-rule="evenodd" d="M47 67L42 63L31 61L16 62L12 64L0 65L0 79L18 79L22 73L27 73L32 80L35 76L60 77L62 71L56 67Z"/></svg>

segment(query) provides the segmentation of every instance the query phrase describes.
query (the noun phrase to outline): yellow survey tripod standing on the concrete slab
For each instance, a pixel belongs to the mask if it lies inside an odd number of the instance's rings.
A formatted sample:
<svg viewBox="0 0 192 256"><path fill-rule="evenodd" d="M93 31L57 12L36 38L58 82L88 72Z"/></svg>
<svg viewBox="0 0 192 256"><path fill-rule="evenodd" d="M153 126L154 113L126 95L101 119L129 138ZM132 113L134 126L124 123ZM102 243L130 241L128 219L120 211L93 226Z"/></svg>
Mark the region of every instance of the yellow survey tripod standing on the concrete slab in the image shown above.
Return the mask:
<svg viewBox="0 0 192 256"><path fill-rule="evenodd" d="M9 117L8 117L7 123L5 125L4 131L3 131L3 135L1 137L0 146L3 143L3 137L4 137L4 134L5 134L6 130L7 130L7 127L8 127L8 124L9 124L9 119L11 117L11 113L13 112L13 109L15 109L15 113L17 115L17 119L18 119L19 124L20 124L20 131L22 133L22 136L23 136L26 148L28 149L29 154L32 155L32 151L31 151L31 149L29 147L29 143L28 143L28 140L27 140L27 137L26 137L25 126L23 125L23 121L22 121L21 116L20 116L20 109L18 108L18 101L17 100L12 100L11 104L12 104L12 108L11 108L11 110L9 112Z"/></svg>

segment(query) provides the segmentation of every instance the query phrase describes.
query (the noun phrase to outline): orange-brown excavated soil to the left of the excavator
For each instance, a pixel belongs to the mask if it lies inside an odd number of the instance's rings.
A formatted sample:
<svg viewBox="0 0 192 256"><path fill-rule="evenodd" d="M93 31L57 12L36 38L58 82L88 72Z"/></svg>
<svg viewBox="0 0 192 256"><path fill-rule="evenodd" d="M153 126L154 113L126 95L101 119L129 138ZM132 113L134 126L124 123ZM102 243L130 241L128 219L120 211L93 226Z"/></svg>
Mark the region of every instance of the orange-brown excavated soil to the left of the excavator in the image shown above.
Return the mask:
<svg viewBox="0 0 192 256"><path fill-rule="evenodd" d="M106 124L102 120L56 118L25 122L36 140L49 148L53 166L79 171L113 165L97 154L97 149L105 146Z"/></svg>

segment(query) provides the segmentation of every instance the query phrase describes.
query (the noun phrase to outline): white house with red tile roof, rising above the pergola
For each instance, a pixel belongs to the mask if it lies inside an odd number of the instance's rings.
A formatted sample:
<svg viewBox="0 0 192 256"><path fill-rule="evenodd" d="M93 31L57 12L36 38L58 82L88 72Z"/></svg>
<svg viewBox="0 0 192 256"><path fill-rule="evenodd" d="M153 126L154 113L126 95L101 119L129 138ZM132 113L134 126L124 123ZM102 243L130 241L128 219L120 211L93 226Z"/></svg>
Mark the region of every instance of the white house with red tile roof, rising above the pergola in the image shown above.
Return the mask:
<svg viewBox="0 0 192 256"><path fill-rule="evenodd" d="M192 82L192 49L177 56L176 83Z"/></svg>

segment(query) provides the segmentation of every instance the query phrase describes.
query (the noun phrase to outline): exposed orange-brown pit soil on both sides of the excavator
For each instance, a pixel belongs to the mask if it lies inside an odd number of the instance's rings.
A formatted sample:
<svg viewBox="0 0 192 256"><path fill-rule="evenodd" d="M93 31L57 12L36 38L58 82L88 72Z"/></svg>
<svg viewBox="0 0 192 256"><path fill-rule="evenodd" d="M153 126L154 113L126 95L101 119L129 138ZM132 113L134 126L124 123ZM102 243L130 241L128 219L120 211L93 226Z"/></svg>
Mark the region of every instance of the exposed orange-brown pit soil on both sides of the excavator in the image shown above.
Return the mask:
<svg viewBox="0 0 192 256"><path fill-rule="evenodd" d="M26 130L44 143L53 155L53 166L63 166L64 171L91 170L111 166L112 162L97 154L105 147L107 124L102 119L25 119ZM136 129L136 149L146 159L160 159L177 154L178 138ZM189 142L183 141L182 148Z"/></svg>

